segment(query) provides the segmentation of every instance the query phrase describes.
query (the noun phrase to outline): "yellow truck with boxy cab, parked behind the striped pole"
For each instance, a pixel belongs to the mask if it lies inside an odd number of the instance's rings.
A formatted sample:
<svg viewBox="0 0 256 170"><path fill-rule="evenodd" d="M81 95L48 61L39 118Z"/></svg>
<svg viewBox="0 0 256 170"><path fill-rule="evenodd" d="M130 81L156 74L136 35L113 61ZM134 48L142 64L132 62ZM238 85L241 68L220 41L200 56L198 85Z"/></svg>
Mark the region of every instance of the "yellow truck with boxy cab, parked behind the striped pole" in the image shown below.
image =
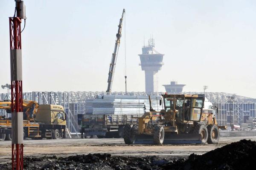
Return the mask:
<svg viewBox="0 0 256 170"><path fill-rule="evenodd" d="M7 106L8 102L0 101L0 109L6 109L7 112L10 112L10 108ZM26 119L23 118L24 138L58 139L66 137L66 113L62 106L52 104L38 105L35 102L34 106L24 107L26 105L24 102L27 101L23 101L23 117L27 117ZM29 112L32 112L32 114ZM12 119L0 116L0 140L11 140L11 132Z"/></svg>

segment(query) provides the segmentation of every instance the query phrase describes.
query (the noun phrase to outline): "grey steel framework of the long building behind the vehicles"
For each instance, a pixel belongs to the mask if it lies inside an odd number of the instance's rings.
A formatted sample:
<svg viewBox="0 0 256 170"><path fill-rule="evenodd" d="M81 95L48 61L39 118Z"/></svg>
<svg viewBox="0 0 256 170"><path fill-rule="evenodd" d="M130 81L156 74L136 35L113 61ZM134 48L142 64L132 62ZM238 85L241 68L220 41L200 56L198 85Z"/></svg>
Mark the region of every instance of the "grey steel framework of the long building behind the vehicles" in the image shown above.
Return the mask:
<svg viewBox="0 0 256 170"><path fill-rule="evenodd" d="M23 92L23 99L38 102L38 104L57 104L64 107L67 112L67 128L77 133L77 115L84 114L87 99L94 99L97 95L161 95L164 92ZM244 123L247 117L256 116L256 99L247 98L224 92L182 92L182 94L205 94L213 106L219 108L216 115L218 124ZM10 93L0 93L0 100L10 100ZM9 114L0 109L0 115Z"/></svg>

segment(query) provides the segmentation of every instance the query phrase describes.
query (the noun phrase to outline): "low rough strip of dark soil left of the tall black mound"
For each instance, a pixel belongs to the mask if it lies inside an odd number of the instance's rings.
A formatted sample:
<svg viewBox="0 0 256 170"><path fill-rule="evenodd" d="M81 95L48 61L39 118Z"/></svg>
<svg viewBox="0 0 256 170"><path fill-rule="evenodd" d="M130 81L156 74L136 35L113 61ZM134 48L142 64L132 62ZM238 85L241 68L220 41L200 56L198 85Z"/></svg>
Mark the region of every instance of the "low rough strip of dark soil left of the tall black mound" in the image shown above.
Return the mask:
<svg viewBox="0 0 256 170"><path fill-rule="evenodd" d="M185 161L184 158L180 159ZM88 154L69 157L44 156L24 158L24 170L162 170L161 165L177 159L157 156L131 157L110 154ZM11 164L0 164L0 170L11 170Z"/></svg>

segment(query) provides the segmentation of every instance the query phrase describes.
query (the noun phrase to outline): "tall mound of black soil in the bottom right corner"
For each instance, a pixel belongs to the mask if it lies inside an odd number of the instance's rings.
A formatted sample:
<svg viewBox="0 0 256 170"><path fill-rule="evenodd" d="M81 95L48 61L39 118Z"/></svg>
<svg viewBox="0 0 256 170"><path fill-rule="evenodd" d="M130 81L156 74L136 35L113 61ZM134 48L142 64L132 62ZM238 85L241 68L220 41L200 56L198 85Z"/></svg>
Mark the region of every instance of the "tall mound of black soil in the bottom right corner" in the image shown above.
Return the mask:
<svg viewBox="0 0 256 170"><path fill-rule="evenodd" d="M241 140L203 155L191 154L185 162L168 163L169 170L250 170L256 162L256 142Z"/></svg>

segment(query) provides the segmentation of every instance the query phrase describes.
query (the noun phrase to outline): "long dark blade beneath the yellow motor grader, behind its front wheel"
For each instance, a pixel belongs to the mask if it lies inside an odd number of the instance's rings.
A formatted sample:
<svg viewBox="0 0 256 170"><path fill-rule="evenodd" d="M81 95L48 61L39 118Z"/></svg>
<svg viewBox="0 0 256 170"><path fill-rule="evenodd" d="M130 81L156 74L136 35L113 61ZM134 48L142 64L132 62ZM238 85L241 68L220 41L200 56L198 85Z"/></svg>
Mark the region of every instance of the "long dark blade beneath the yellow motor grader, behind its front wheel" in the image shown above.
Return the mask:
<svg viewBox="0 0 256 170"><path fill-rule="evenodd" d="M154 144L153 135L136 135L134 144ZM165 134L163 144L201 144L201 134Z"/></svg>

